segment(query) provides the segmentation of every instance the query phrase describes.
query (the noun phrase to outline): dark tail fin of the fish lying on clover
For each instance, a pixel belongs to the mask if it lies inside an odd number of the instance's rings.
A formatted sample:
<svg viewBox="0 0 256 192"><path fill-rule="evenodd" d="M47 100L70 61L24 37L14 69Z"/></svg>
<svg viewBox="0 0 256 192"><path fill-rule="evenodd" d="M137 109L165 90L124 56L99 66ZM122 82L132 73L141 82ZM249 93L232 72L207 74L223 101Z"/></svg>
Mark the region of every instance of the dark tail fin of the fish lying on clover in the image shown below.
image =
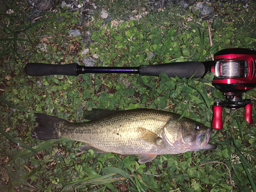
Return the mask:
<svg viewBox="0 0 256 192"><path fill-rule="evenodd" d="M38 126L32 130L32 138L40 140L61 138L59 128L68 121L41 113L35 113L35 117Z"/></svg>

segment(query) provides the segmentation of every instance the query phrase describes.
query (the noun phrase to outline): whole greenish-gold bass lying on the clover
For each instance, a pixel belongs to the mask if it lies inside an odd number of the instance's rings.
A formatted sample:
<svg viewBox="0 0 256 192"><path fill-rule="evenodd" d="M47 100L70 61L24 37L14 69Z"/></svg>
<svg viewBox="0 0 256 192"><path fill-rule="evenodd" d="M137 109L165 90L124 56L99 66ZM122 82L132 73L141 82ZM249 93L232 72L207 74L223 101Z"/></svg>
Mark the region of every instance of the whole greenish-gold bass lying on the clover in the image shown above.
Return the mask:
<svg viewBox="0 0 256 192"><path fill-rule="evenodd" d="M85 118L90 121L74 123L36 113L38 126L32 130L31 137L87 143L79 146L82 152L92 149L95 153L139 155L139 163L150 162L157 155L216 148L208 143L210 127L186 117L179 119L176 113L153 109L93 109Z"/></svg>

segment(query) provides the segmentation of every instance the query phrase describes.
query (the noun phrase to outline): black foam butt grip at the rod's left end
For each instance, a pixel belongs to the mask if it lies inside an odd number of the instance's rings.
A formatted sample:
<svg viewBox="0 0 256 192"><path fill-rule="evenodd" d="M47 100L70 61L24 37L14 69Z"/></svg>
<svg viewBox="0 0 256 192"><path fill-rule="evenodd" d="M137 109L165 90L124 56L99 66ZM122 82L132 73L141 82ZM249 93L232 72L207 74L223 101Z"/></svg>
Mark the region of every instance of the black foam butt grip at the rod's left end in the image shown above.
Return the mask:
<svg viewBox="0 0 256 192"><path fill-rule="evenodd" d="M72 75L77 76L77 63L52 65L47 63L27 63L25 72L30 76Z"/></svg>

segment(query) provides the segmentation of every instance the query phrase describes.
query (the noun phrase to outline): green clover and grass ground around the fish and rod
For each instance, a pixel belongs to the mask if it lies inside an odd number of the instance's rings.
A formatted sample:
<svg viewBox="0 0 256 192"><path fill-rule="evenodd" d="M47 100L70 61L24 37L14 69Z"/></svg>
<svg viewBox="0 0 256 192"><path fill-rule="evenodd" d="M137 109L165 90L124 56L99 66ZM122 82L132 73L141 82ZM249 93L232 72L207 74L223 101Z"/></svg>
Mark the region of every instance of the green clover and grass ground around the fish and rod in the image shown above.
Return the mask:
<svg viewBox="0 0 256 192"><path fill-rule="evenodd" d="M122 5L122 1L117 2ZM132 8L125 5L120 10L130 13ZM26 6L9 2L7 7L15 15L4 14L0 21L1 191L256 190L256 126L244 120L243 109L223 110L224 128L211 136L211 142L217 144L215 151L158 156L146 164L139 164L135 155L95 154L91 150L80 153L78 147L82 143L72 140L39 141L30 137L36 125L34 112L80 122L84 110L92 108L161 109L210 126L214 98L223 97L211 86L213 74L202 79L179 79L165 74L31 77L24 72L27 62L81 63L84 57L95 53L99 57L97 66L120 67L209 60L211 54L223 48L256 49L255 4L245 11L238 10L243 9L241 5L220 10L223 19L210 23L212 48L206 22L191 13L191 8L185 15L178 7L167 7L138 21L125 20L117 27L110 23L102 27L103 20L95 12L95 20L81 27L77 25L80 13L62 10L60 5L56 14L41 13L44 20L31 24L30 12L23 12ZM101 6L115 10L116 5ZM110 11L112 18L122 18L118 14ZM64 16L65 22L57 23L58 16ZM82 37L69 36L70 29L89 31L94 44L86 47ZM47 38L42 40L42 35ZM43 42L48 52L37 47ZM82 55L86 48L90 51ZM148 60L150 52L154 57ZM130 82L130 86L123 81ZM254 96L255 89L243 94L243 98ZM253 119L256 121L256 111Z"/></svg>

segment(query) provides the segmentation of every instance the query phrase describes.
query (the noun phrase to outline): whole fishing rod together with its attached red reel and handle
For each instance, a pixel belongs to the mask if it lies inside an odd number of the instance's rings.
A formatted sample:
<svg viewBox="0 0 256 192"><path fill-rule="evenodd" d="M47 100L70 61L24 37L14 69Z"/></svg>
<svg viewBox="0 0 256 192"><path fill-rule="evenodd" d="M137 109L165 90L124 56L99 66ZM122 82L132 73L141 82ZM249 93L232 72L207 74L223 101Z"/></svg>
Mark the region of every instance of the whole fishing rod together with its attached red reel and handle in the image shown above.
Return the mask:
<svg viewBox="0 0 256 192"><path fill-rule="evenodd" d="M85 67L77 63L51 65L47 63L27 63L25 72L30 76L72 75L85 73L126 73L159 76L165 73L169 77L203 77L214 72L212 86L223 92L225 101L216 98L214 117L211 127L222 129L222 108L245 108L245 119L252 120L252 100L242 99L242 93L256 87L256 51L244 48L223 49L214 55L214 61L172 62L159 65L141 65L139 67Z"/></svg>

